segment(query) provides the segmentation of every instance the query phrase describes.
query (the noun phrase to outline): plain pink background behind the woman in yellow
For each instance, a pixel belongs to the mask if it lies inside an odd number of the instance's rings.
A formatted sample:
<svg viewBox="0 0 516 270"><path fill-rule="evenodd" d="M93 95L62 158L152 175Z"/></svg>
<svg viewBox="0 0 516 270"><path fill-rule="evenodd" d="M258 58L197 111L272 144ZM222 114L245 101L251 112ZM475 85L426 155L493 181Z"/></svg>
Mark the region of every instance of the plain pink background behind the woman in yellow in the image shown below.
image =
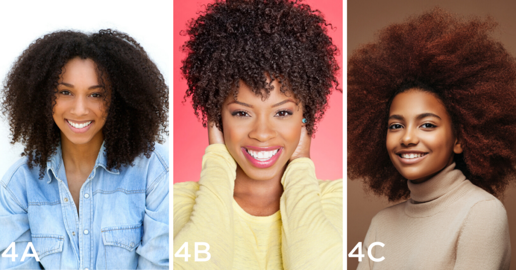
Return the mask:
<svg viewBox="0 0 516 270"><path fill-rule="evenodd" d="M208 146L207 131L193 114L190 99L183 102L187 89L186 81L181 74L181 60L185 54L181 45L187 37L179 35L186 29L186 23L197 17L197 12L204 9L205 4L213 0L174 1L174 97L173 97L173 133L174 183L198 181L201 174L201 160L204 149ZM337 57L341 67L338 81L342 87L342 0L307 0L312 9L319 9L328 23L333 25L328 34L341 54ZM342 93L333 91L329 100L329 108L319 122L315 138L312 139L311 158L315 163L318 179L342 178Z"/></svg>

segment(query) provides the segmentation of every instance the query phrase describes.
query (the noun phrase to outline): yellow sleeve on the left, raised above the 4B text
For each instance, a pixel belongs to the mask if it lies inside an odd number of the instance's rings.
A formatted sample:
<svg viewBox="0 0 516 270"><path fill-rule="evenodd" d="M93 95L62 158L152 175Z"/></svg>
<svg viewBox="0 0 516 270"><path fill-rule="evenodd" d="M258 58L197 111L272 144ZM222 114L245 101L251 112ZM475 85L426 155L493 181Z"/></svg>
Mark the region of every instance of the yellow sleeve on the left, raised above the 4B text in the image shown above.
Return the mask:
<svg viewBox="0 0 516 270"><path fill-rule="evenodd" d="M174 269L231 269L233 265L234 226L233 226L233 189L235 186L236 162L225 145L214 144L206 148L202 157L199 190L195 193L193 207L188 203L175 202L174 221L183 222L176 228L174 224ZM188 200L188 196L178 199ZM178 205L178 209L175 206ZM178 215L176 216L176 210ZM189 218L185 217L190 211ZM175 253L188 242L188 261L176 258ZM195 261L195 243L209 245L209 260ZM199 246L199 250L205 250ZM180 255L185 254L181 250ZM199 253L199 258L206 254Z"/></svg>

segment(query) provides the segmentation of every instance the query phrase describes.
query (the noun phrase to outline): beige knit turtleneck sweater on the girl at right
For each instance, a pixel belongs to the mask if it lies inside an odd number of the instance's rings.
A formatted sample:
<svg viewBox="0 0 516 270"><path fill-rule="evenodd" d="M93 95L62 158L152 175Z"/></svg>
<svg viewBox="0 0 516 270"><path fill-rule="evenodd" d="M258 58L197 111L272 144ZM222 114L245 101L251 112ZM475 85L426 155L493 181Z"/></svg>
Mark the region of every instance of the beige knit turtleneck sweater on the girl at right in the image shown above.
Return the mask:
<svg viewBox="0 0 516 270"><path fill-rule="evenodd" d="M504 205L454 168L420 184L408 181L410 199L373 217L357 269L509 269ZM381 262L367 256L374 242L384 244L372 249Z"/></svg>

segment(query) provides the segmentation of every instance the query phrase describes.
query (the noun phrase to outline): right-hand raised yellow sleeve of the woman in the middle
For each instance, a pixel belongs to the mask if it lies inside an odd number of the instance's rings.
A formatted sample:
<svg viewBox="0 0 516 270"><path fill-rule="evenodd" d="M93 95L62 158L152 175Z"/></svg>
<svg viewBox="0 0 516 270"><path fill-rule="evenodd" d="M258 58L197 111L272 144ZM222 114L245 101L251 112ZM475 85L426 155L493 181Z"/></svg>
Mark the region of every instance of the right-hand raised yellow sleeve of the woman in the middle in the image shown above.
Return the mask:
<svg viewBox="0 0 516 270"><path fill-rule="evenodd" d="M321 189L303 157L288 164L281 184L283 268L342 269L342 179Z"/></svg>

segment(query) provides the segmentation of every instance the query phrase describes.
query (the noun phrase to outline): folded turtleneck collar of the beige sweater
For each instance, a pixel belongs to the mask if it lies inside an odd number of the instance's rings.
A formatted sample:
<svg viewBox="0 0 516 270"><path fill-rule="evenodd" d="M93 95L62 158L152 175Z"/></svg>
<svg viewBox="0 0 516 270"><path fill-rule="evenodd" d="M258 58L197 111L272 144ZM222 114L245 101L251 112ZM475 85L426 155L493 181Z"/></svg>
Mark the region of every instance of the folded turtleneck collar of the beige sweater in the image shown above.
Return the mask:
<svg viewBox="0 0 516 270"><path fill-rule="evenodd" d="M466 180L460 170L455 169L453 163L423 183L414 184L408 180L408 186L410 199L407 201L406 214L425 217L441 212L474 185Z"/></svg>

